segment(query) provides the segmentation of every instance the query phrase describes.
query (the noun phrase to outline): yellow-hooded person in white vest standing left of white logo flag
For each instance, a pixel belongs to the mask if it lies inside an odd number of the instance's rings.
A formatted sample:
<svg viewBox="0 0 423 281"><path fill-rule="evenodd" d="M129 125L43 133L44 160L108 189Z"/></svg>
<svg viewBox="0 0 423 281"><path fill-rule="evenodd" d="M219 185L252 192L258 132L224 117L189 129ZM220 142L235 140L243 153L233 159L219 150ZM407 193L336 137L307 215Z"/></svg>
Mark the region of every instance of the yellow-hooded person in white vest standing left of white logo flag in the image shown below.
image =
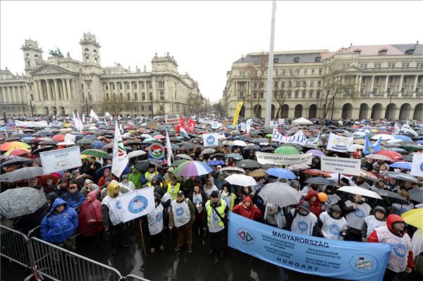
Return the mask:
<svg viewBox="0 0 423 281"><path fill-rule="evenodd" d="M118 211L121 206L121 201L118 197L120 194L119 182L112 180L107 186L107 195L102 201L102 220L104 230L111 230L113 251L112 254L118 254L118 248L128 248L128 245L123 244L123 218L121 212Z"/></svg>

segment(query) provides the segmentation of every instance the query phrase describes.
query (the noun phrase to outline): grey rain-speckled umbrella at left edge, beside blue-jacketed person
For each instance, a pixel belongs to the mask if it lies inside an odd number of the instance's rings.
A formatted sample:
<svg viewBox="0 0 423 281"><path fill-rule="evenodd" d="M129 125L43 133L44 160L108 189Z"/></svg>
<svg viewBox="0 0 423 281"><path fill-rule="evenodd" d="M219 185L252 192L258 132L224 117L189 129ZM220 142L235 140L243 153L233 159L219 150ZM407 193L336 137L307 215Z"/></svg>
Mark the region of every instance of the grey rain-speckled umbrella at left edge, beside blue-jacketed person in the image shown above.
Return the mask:
<svg viewBox="0 0 423 281"><path fill-rule="evenodd" d="M0 215L8 219L25 216L46 203L44 192L33 187L7 189L0 194Z"/></svg>

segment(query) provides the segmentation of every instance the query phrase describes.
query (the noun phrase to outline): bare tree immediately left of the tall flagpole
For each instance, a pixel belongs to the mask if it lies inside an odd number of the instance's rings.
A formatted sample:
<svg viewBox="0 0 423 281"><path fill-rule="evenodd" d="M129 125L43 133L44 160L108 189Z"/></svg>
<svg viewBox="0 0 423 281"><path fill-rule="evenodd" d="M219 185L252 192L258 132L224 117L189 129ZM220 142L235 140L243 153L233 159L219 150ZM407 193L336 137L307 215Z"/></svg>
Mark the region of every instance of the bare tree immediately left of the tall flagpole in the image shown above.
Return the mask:
<svg viewBox="0 0 423 281"><path fill-rule="evenodd" d="M260 104L260 99L264 97L264 83L267 80L267 63L269 60L269 54L262 53L255 58L252 63L248 63L245 71L251 82L251 89L245 94L245 101L250 104L252 112L255 105ZM253 115L257 117L259 106L257 106L253 112Z"/></svg>

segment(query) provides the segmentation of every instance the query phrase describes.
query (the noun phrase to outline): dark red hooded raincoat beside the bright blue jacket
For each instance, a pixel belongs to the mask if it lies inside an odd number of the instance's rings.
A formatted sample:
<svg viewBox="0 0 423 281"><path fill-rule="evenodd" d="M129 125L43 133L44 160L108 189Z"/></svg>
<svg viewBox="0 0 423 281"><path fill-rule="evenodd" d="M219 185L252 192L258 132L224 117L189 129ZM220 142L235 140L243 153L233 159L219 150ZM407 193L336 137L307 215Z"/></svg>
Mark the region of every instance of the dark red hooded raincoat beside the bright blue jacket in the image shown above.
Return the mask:
<svg viewBox="0 0 423 281"><path fill-rule="evenodd" d="M97 199L97 192L94 190L87 194L91 201L85 200L82 203L81 212L78 216L80 230L84 236L96 235L103 230L102 202Z"/></svg>

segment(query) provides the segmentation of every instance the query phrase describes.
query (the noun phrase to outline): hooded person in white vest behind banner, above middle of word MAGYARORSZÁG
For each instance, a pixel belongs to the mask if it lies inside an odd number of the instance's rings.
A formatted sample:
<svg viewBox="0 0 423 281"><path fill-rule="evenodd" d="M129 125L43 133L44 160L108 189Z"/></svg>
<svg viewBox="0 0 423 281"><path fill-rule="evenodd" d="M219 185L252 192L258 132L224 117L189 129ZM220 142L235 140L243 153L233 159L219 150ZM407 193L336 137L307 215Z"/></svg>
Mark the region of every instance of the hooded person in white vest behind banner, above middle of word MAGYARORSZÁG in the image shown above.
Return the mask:
<svg viewBox="0 0 423 281"><path fill-rule="evenodd" d="M303 201L298 208L293 208L286 216L286 229L302 235L319 236L317 217L309 208L307 201Z"/></svg>

